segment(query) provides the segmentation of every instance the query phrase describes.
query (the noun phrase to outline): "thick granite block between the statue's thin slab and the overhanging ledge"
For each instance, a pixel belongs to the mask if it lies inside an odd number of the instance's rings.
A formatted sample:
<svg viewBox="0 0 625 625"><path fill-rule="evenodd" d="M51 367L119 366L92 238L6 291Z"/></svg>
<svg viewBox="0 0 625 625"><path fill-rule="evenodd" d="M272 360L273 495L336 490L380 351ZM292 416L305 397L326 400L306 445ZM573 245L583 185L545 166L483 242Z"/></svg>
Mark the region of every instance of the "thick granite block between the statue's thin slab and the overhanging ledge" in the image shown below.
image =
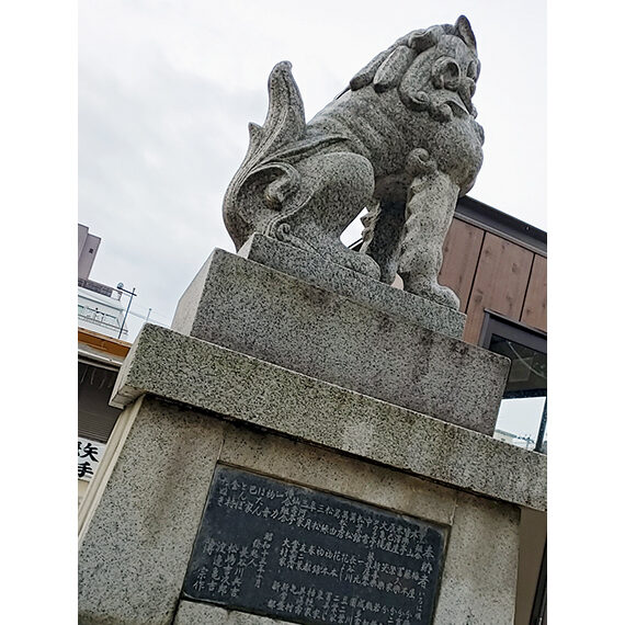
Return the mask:
<svg viewBox="0 0 625 625"><path fill-rule="evenodd" d="M182 296L172 328L486 434L510 364L224 250Z"/></svg>

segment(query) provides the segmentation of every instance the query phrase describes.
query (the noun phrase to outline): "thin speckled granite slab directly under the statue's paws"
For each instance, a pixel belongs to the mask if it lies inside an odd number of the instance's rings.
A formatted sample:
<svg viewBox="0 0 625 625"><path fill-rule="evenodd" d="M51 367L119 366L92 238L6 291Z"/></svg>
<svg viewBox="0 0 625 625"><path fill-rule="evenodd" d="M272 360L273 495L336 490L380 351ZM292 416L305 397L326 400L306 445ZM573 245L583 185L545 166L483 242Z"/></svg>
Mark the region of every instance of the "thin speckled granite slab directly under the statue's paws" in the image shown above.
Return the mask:
<svg viewBox="0 0 625 625"><path fill-rule="evenodd" d="M277 239L252 235L239 255L264 264L305 282L344 295L350 299L418 323L428 330L462 339L466 315L372 280L323 257L283 243Z"/></svg>

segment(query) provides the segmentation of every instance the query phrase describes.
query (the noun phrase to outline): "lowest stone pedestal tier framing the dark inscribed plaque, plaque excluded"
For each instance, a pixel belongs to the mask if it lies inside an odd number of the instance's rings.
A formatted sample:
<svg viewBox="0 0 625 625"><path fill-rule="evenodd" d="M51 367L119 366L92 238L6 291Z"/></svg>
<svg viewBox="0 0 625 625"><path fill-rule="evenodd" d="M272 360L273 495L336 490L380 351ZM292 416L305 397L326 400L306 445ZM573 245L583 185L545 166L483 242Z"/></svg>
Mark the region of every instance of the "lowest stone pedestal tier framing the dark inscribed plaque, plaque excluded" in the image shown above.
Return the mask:
<svg viewBox="0 0 625 625"><path fill-rule="evenodd" d="M79 552L81 625L276 622L266 615L229 609L227 600L223 607L181 600L204 502L214 471L224 465L446 529L433 625L513 622L516 505L366 458L258 431L248 423L227 422L217 413L155 397L140 401ZM316 534L307 539L312 543ZM390 552L387 559L393 564ZM274 581L263 580L263 589L266 591Z"/></svg>

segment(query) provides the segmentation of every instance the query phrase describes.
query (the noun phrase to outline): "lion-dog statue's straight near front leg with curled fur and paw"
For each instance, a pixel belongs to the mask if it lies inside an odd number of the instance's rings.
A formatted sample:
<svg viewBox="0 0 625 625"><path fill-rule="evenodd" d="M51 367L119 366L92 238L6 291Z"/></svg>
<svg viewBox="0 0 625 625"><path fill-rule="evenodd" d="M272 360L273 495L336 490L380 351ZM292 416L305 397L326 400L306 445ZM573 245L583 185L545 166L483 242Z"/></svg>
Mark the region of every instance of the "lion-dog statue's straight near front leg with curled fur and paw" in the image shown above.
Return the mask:
<svg viewBox="0 0 625 625"><path fill-rule="evenodd" d="M439 284L439 272L459 188L432 161L429 164L414 172L408 190L398 273L405 291L457 310L459 299L451 288Z"/></svg>

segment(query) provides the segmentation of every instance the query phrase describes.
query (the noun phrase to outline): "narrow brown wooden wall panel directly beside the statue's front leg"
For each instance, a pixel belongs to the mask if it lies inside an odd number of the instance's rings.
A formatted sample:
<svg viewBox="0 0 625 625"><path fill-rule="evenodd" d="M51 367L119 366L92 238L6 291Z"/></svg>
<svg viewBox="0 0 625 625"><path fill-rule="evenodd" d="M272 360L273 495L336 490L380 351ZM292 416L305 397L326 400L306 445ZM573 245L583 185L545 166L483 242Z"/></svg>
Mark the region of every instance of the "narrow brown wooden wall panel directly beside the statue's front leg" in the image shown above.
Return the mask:
<svg viewBox="0 0 625 625"><path fill-rule="evenodd" d="M448 286L461 298L463 312L467 308L482 239L482 229L461 219L452 219L443 246L443 265L439 273L439 284Z"/></svg>

